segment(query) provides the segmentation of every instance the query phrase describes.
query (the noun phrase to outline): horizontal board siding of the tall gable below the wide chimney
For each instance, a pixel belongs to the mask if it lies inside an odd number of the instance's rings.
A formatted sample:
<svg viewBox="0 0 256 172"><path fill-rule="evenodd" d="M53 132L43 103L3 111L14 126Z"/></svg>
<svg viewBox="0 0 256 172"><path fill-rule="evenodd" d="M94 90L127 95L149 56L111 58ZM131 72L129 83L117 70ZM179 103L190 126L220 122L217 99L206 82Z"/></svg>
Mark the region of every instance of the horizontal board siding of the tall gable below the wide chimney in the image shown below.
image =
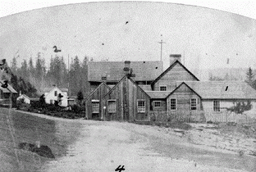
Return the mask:
<svg viewBox="0 0 256 172"><path fill-rule="evenodd" d="M179 63L173 66L157 83L154 84L153 90L158 91L161 85L167 85L167 91L176 88L176 81L196 81L193 75L190 75Z"/></svg>

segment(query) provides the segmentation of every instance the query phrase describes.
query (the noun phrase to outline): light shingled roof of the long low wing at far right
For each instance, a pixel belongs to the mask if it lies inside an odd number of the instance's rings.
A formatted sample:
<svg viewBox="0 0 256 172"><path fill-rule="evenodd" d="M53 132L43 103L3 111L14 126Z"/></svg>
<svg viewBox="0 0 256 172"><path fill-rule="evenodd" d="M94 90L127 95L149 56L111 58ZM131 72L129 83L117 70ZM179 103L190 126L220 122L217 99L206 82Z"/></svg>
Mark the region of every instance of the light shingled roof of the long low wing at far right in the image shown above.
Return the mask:
<svg viewBox="0 0 256 172"><path fill-rule="evenodd" d="M244 81L185 81L185 84L203 99L256 99L256 90Z"/></svg>

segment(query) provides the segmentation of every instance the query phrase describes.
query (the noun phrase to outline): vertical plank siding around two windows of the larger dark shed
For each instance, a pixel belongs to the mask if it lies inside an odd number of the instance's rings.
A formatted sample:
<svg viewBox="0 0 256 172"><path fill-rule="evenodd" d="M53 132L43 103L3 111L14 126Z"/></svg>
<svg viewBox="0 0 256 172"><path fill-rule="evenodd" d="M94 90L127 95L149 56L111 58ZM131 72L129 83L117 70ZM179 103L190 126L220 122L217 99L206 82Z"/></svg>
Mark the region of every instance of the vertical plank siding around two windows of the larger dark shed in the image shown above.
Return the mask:
<svg viewBox="0 0 256 172"><path fill-rule="evenodd" d="M146 110L144 113L138 113L137 100L144 99ZM107 100L117 101L116 113L108 113ZM105 120L145 120L149 119L147 113L150 108L150 98L130 79L125 78L112 90L107 93L103 100L103 106L106 106L104 112Z"/></svg>

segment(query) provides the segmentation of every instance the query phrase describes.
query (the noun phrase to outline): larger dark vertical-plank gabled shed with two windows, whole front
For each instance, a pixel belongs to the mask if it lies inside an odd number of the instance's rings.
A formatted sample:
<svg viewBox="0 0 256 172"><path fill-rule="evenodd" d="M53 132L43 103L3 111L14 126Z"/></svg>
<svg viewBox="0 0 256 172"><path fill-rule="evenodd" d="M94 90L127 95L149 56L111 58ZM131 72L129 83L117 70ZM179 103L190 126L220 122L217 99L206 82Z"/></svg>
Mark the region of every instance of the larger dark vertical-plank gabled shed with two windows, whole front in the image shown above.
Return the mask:
<svg viewBox="0 0 256 172"><path fill-rule="evenodd" d="M149 120L150 97L125 75L103 97L103 120Z"/></svg>

